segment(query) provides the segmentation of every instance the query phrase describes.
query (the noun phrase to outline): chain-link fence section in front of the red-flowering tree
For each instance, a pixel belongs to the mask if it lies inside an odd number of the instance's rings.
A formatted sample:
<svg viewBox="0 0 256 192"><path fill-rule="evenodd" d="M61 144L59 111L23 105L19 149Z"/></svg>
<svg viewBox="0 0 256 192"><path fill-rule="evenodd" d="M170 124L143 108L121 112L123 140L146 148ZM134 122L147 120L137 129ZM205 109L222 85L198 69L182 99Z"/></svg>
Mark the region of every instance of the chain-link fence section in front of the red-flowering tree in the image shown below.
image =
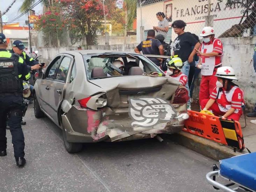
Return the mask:
<svg viewBox="0 0 256 192"><path fill-rule="evenodd" d="M35 30L42 31L38 36L42 46L109 45L137 41L137 0L61 0L45 6L45 12L35 22Z"/></svg>

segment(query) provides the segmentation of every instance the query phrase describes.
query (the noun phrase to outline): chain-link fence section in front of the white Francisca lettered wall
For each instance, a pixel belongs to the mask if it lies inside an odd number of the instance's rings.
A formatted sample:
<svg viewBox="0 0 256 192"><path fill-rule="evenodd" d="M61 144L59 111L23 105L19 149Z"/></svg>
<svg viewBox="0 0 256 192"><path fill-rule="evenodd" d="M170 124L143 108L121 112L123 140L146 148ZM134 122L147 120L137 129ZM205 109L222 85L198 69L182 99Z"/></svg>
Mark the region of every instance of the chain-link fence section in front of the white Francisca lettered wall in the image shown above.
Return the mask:
<svg viewBox="0 0 256 192"><path fill-rule="evenodd" d="M185 31L199 35L204 26L212 26L216 37L256 35L255 0L141 0L137 7L137 40L157 26L157 12L163 12L169 22L166 40L174 39L171 29L175 20L187 23ZM144 32L140 30L144 26ZM166 42L167 42L166 41Z"/></svg>

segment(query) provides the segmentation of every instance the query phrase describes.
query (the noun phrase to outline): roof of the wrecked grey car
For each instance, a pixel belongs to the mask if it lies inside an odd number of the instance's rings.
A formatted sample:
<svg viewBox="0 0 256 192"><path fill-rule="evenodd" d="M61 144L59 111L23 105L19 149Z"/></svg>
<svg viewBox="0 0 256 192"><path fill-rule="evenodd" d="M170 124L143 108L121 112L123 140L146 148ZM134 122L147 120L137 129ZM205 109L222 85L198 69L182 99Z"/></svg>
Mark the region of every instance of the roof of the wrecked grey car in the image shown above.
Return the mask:
<svg viewBox="0 0 256 192"><path fill-rule="evenodd" d="M63 51L60 54L70 54L70 55L87 55L87 54L103 54L103 53L115 53L115 54L133 54L137 55L135 52L124 52L124 51L112 51L112 50L99 50L99 49L88 49L88 50L73 50L73 51Z"/></svg>

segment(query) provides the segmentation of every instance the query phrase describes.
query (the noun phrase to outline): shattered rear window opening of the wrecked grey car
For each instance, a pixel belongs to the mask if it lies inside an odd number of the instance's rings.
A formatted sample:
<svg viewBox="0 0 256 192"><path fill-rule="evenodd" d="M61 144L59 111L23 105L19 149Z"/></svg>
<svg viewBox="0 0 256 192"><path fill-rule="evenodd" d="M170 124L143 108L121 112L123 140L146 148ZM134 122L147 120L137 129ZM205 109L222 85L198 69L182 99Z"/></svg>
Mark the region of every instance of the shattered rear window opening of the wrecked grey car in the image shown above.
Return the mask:
<svg viewBox="0 0 256 192"><path fill-rule="evenodd" d="M159 67L142 55L97 54L83 57L89 79L142 75L151 71L163 73Z"/></svg>

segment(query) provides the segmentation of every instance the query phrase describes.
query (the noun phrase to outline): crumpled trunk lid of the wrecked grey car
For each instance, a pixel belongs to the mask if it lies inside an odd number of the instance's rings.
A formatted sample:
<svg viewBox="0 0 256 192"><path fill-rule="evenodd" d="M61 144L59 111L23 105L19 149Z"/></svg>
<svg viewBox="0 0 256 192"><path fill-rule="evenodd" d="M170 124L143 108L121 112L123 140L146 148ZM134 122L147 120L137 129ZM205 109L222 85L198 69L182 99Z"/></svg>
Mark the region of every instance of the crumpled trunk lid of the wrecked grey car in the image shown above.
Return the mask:
<svg viewBox="0 0 256 192"><path fill-rule="evenodd" d="M130 99L158 97L170 100L179 85L171 78L143 75L95 79L92 82L104 88L110 108L128 108Z"/></svg>

